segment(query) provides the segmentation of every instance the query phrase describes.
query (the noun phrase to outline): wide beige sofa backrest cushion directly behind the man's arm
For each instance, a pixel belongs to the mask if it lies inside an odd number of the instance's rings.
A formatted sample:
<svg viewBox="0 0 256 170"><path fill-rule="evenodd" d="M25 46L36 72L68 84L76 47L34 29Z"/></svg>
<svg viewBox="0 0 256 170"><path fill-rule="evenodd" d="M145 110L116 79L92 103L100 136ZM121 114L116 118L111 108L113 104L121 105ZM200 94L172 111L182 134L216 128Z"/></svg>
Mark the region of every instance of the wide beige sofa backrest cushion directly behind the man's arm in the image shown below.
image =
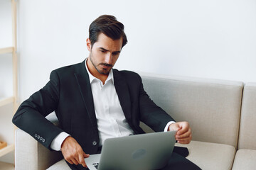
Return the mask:
<svg viewBox="0 0 256 170"><path fill-rule="evenodd" d="M176 121L190 123L192 140L237 147L242 82L140 75L158 106Z"/></svg>

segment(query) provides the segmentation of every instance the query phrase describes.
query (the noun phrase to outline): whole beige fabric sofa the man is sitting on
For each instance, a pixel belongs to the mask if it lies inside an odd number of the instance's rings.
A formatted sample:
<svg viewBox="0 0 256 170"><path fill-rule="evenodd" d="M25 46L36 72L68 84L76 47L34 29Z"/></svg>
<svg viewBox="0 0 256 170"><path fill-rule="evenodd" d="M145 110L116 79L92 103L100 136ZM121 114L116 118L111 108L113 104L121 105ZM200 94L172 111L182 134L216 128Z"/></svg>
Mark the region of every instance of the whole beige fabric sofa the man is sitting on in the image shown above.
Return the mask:
<svg viewBox="0 0 256 170"><path fill-rule="evenodd" d="M191 124L193 141L176 144L188 147L188 159L201 169L255 169L256 84L141 75L156 104ZM151 132L143 123L142 128ZM17 170L68 169L60 152L48 151L22 130L16 130L15 154Z"/></svg>

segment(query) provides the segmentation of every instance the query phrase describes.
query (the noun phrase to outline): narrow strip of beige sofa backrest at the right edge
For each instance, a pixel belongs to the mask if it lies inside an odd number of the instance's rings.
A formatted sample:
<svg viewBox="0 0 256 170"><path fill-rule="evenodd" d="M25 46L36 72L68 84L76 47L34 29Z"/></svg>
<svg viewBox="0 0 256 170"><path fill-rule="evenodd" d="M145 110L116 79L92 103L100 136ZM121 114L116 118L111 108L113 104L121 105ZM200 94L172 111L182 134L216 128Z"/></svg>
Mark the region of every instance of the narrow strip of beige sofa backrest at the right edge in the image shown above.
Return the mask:
<svg viewBox="0 0 256 170"><path fill-rule="evenodd" d="M238 149L256 149L256 83L245 84Z"/></svg>

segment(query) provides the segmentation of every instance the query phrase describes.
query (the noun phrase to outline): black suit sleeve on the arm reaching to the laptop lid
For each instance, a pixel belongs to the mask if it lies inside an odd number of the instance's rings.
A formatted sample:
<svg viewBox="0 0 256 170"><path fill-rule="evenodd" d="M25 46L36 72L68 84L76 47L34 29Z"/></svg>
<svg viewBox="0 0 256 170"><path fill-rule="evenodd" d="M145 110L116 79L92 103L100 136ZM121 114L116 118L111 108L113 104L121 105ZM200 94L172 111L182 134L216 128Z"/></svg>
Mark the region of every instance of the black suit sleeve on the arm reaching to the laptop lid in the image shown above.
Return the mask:
<svg viewBox="0 0 256 170"><path fill-rule="evenodd" d="M140 119L143 123L148 125L155 132L163 132L167 123L175 121L171 116L166 113L162 108L156 105L154 101L149 98L149 95L144 91L142 78L140 79L139 86L139 112Z"/></svg>

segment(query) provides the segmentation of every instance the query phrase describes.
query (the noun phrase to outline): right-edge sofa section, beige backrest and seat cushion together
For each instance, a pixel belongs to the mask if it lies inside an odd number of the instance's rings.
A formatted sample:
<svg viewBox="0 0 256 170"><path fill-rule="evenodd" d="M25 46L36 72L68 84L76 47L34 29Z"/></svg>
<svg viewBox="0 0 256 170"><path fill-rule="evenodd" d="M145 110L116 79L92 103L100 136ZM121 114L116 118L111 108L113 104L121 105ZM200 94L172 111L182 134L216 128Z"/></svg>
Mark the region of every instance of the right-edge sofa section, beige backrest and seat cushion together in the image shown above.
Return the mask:
<svg viewBox="0 0 256 170"><path fill-rule="evenodd" d="M233 170L256 167L256 84L245 84L242 95L240 135Z"/></svg>

